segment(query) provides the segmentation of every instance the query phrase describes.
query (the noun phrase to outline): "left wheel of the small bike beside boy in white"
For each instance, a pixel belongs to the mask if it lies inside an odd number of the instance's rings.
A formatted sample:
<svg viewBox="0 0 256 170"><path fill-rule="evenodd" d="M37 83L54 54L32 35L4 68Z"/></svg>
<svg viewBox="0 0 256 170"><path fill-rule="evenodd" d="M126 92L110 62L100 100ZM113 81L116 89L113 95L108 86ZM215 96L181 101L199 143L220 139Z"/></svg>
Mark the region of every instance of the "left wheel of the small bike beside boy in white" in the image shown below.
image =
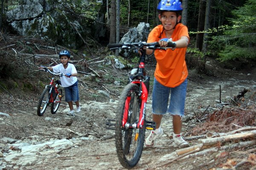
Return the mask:
<svg viewBox="0 0 256 170"><path fill-rule="evenodd" d="M49 103L49 98L50 98L49 91L50 91L50 87L45 88L40 96L39 103L38 103L38 110L37 110L38 116L43 116L46 110L46 107Z"/></svg>

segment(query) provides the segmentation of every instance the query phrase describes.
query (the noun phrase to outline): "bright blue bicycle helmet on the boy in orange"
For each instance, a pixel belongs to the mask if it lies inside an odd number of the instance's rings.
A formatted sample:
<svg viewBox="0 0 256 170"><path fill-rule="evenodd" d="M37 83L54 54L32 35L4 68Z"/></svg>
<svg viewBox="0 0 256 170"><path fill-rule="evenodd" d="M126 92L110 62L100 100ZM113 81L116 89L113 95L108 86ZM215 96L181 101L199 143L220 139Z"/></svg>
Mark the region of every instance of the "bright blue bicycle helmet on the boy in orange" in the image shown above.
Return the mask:
<svg viewBox="0 0 256 170"><path fill-rule="evenodd" d="M161 0L157 6L157 11L182 11L180 0Z"/></svg>

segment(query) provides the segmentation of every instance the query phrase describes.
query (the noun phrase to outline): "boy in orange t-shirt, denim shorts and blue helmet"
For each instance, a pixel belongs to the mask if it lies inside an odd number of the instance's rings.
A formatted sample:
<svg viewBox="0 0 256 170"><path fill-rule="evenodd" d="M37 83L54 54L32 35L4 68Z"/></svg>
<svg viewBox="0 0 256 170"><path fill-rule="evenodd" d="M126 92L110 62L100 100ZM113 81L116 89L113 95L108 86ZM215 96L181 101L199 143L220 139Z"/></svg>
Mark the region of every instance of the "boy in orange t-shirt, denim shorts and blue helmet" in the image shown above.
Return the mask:
<svg viewBox="0 0 256 170"><path fill-rule="evenodd" d="M171 40L176 43L176 48L154 51L157 66L154 73L152 114L153 121L156 122L156 130L152 130L145 139L145 147L154 146L156 139L163 135L160 125L165 113L172 115L174 146L189 146L181 136L181 118L184 115L188 76L185 54L189 44L188 28L180 23L182 10L180 0L161 0L157 11L162 25L156 26L148 35L148 42L159 42L162 47L166 47ZM147 49L146 53L152 54L153 50Z"/></svg>

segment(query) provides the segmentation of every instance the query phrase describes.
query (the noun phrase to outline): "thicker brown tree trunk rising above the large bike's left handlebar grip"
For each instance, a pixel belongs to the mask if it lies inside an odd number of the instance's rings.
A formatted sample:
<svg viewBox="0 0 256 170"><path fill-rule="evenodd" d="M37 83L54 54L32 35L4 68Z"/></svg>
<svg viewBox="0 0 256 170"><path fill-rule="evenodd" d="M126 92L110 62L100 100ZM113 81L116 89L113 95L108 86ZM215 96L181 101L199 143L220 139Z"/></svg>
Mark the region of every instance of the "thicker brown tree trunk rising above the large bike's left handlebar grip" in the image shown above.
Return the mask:
<svg viewBox="0 0 256 170"><path fill-rule="evenodd" d="M116 43L116 0L111 0L111 15L110 15L110 37L109 43Z"/></svg>

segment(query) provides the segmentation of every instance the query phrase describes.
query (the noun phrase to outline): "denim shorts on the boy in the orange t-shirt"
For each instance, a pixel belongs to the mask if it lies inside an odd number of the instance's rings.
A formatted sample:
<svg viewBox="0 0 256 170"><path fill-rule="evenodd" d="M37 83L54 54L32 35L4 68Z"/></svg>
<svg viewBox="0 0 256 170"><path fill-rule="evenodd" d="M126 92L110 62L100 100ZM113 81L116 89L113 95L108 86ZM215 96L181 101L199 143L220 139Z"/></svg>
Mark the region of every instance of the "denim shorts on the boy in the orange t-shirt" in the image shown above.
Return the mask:
<svg viewBox="0 0 256 170"><path fill-rule="evenodd" d="M170 113L172 115L184 116L186 87L187 79L175 88L169 88L161 85L156 79L154 79L152 93L153 114L163 115L165 113ZM168 107L170 92L171 97Z"/></svg>

